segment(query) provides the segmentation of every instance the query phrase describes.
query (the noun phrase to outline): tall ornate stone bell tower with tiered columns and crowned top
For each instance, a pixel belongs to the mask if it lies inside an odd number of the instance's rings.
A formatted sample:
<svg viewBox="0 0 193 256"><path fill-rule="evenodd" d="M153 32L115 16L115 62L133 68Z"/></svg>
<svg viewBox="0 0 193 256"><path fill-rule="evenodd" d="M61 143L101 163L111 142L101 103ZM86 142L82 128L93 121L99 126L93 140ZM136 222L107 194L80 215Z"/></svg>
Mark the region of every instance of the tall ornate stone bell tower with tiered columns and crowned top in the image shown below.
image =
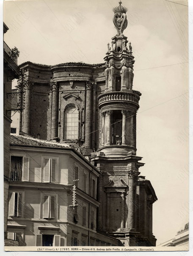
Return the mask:
<svg viewBox="0 0 193 256"><path fill-rule="evenodd" d="M102 172L98 181L99 231L119 238L123 245L139 245L139 162L136 156L136 113L141 93L133 88L132 46L124 36L127 8L113 8L117 34L108 43L105 92L98 97L101 119L99 150L91 161Z"/></svg>

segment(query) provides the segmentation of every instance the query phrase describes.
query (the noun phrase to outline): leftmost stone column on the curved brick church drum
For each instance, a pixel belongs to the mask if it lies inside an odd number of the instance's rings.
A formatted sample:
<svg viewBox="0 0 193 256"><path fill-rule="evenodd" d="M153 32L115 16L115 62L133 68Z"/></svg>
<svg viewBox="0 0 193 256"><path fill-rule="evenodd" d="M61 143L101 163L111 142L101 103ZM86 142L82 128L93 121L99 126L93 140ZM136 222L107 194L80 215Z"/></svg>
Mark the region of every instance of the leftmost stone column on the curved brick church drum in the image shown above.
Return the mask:
<svg viewBox="0 0 193 256"><path fill-rule="evenodd" d="M30 82L25 85L25 108L23 111L23 131L30 134L30 107L31 107L31 85Z"/></svg>

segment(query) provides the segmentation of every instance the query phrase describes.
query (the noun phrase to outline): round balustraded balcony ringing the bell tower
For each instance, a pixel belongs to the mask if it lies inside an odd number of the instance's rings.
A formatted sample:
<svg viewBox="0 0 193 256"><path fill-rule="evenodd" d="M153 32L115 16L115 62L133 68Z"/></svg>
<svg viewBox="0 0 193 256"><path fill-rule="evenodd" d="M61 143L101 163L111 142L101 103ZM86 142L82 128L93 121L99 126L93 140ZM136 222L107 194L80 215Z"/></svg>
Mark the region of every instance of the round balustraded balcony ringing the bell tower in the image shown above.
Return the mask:
<svg viewBox="0 0 193 256"><path fill-rule="evenodd" d="M140 97L138 94L132 92L123 92L123 91L113 91L113 92L106 92L100 94L98 96L99 99L99 107L107 102L113 103L123 103L123 102L133 102L135 105L138 105Z"/></svg>

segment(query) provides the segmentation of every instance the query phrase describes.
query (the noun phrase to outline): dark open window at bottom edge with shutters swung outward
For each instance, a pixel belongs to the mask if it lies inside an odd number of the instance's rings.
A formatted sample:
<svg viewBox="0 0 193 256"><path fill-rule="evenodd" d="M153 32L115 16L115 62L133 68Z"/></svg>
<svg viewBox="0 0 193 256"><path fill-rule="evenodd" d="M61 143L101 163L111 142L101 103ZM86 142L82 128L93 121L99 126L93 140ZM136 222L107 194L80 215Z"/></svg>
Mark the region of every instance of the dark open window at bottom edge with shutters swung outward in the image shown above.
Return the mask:
<svg viewBox="0 0 193 256"><path fill-rule="evenodd" d="M61 236L59 235L37 235L36 246L60 246Z"/></svg>

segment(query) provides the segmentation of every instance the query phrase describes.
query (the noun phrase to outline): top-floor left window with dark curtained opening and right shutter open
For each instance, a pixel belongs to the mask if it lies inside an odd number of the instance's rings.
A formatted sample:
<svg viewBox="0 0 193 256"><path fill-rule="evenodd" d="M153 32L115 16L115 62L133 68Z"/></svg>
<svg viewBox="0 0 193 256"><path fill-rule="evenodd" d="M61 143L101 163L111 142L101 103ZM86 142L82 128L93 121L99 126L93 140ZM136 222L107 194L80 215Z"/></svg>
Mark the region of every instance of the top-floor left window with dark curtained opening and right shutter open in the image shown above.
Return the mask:
<svg viewBox="0 0 193 256"><path fill-rule="evenodd" d="M11 156L10 179L29 181L29 157Z"/></svg>

